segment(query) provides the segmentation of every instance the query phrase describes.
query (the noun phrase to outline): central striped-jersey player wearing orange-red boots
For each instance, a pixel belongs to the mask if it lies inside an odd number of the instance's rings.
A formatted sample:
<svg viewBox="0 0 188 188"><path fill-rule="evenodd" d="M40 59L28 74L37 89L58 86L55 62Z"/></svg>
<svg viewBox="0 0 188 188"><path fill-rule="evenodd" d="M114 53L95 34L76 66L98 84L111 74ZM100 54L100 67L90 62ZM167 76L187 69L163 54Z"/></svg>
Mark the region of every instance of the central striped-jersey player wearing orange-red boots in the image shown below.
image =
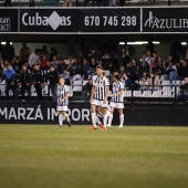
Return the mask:
<svg viewBox="0 0 188 188"><path fill-rule="evenodd" d="M96 76L92 77L92 92L91 92L91 116L92 116L92 123L93 126L90 129L96 129L96 106L101 106L103 108L103 130L106 130L106 122L107 122L107 95L108 95L108 87L109 87L109 81L106 76L104 76L103 73L103 66L98 65L96 66Z"/></svg>

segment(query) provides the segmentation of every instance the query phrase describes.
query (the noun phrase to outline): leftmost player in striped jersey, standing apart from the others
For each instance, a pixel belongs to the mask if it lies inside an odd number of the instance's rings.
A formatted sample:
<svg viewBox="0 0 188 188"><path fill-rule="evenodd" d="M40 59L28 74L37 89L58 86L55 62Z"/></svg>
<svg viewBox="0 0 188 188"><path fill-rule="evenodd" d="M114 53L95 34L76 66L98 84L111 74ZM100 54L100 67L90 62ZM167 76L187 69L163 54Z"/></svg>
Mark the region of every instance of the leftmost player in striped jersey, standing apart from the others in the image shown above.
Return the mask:
<svg viewBox="0 0 188 188"><path fill-rule="evenodd" d="M69 86L64 84L65 80L63 77L60 79L60 85L58 86L56 95L58 95L58 105L56 111L59 112L59 126L63 125L63 118L67 121L69 127L71 127L71 121L69 115L66 114L67 105L69 105Z"/></svg>

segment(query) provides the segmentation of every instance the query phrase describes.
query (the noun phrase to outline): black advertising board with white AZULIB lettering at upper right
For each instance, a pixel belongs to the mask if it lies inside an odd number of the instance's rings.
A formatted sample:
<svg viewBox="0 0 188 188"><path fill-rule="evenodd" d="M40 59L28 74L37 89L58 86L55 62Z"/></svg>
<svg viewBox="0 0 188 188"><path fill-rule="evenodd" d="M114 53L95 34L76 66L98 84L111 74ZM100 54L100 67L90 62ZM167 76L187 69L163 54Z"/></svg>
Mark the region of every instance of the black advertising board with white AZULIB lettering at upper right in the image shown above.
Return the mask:
<svg viewBox="0 0 188 188"><path fill-rule="evenodd" d="M188 32L188 8L143 8L143 32Z"/></svg>

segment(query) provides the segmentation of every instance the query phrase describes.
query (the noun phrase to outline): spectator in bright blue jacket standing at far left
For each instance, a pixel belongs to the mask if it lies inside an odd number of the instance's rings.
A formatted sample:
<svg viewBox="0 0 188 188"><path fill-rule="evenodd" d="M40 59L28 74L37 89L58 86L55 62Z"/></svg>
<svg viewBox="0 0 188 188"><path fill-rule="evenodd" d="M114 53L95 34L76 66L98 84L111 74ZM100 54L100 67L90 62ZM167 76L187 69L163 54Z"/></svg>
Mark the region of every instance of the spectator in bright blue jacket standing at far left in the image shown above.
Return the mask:
<svg viewBox="0 0 188 188"><path fill-rule="evenodd" d="M12 69L12 66L10 64L6 65L7 70L3 72L3 75L1 77L2 82L3 80L6 80L6 96L7 96L7 101L10 101L10 96L9 96L9 91L12 91L13 93L13 101L15 100L15 91L17 91L17 86L15 86L15 72Z"/></svg>

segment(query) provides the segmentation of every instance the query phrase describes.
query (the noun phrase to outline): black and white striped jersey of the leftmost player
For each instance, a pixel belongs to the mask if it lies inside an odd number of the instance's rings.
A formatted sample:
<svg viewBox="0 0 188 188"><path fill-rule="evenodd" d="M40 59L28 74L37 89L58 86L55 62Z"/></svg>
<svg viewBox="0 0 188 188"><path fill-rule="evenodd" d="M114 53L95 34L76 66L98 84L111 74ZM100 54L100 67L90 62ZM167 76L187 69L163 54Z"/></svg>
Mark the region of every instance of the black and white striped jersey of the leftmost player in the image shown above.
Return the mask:
<svg viewBox="0 0 188 188"><path fill-rule="evenodd" d="M67 85L59 85L58 86L58 91L56 91L56 95L58 95L58 105L59 106L67 106L69 104L69 98L64 100L63 103L60 103L60 100L62 100L66 93L70 92L70 88Z"/></svg>

